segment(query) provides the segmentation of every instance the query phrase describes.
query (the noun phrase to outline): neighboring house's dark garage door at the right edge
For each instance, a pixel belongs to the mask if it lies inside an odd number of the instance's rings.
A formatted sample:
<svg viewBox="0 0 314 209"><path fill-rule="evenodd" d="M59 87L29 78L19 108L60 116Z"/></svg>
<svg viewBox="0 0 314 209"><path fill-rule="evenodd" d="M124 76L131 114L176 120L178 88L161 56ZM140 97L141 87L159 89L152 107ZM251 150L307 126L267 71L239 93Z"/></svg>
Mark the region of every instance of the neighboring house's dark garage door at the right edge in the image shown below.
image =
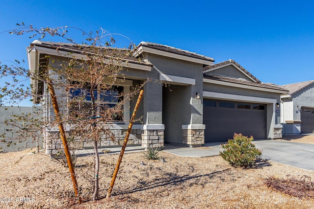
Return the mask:
<svg viewBox="0 0 314 209"><path fill-rule="evenodd" d="M314 133L314 108L301 108L301 133Z"/></svg>

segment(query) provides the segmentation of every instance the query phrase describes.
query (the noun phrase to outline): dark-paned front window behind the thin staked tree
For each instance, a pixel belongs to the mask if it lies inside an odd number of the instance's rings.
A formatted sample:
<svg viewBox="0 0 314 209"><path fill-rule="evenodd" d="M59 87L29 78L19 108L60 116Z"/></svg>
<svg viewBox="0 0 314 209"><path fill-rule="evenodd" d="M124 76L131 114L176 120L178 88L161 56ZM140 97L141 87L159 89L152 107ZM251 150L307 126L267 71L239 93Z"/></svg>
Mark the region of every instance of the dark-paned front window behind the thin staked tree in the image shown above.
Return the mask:
<svg viewBox="0 0 314 209"><path fill-rule="evenodd" d="M78 84L78 82L74 82ZM97 113L100 115L102 112L105 112L108 108L113 108L118 103L123 101L124 97L124 86L112 86L111 89L105 89L102 91L101 86L98 85L97 90L93 91L95 102L97 105ZM77 114L76 117L81 116L91 116L91 94L90 94L90 85L84 84L79 88L72 88L70 90L70 115L75 111ZM117 113L111 116L112 121L123 121L123 112L124 106L121 106L122 110L117 111Z"/></svg>

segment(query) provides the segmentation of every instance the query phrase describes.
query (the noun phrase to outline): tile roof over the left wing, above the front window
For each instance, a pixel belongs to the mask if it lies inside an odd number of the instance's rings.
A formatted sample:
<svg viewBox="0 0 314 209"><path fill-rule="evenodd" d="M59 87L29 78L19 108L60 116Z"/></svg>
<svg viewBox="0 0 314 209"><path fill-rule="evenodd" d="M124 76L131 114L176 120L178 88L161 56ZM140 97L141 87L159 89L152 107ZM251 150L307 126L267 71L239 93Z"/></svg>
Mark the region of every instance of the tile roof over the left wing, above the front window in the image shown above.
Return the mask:
<svg viewBox="0 0 314 209"><path fill-rule="evenodd" d="M93 53L93 50L90 45L76 45L72 43L63 43L63 42L50 42L50 41L33 41L30 46L41 46L45 48L55 49L55 50L62 50L66 52L71 53L78 53L78 54L84 54L83 50L87 53ZM128 52L131 52L131 50L126 48L113 48L113 47L99 47L100 52L104 52L104 55L110 56L110 53L120 54L122 56L126 55ZM138 58L130 56L124 57L124 59L128 60L130 63L136 63L141 65L147 65L152 66L152 64L147 63L145 61L139 61Z"/></svg>

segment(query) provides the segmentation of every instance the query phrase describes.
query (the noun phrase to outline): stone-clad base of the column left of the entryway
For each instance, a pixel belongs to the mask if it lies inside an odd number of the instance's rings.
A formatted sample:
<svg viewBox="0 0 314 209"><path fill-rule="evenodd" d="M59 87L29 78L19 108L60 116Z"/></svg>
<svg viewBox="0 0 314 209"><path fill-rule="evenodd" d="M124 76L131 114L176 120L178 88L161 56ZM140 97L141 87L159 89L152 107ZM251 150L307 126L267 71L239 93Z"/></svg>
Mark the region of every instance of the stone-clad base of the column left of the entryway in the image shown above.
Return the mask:
<svg viewBox="0 0 314 209"><path fill-rule="evenodd" d="M142 147L163 147L164 146L163 124L147 124L142 127Z"/></svg>

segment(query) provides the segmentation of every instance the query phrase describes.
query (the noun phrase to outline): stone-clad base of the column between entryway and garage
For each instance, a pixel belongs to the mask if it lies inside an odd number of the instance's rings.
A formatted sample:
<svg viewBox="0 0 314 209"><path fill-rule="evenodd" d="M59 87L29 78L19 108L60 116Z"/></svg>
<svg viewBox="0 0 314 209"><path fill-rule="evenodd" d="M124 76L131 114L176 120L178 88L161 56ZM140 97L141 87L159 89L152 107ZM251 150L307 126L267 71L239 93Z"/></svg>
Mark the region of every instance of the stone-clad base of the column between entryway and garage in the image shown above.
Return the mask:
<svg viewBox="0 0 314 209"><path fill-rule="evenodd" d="M182 125L183 144L188 144L190 147L202 146L205 143L204 130L203 124Z"/></svg>

